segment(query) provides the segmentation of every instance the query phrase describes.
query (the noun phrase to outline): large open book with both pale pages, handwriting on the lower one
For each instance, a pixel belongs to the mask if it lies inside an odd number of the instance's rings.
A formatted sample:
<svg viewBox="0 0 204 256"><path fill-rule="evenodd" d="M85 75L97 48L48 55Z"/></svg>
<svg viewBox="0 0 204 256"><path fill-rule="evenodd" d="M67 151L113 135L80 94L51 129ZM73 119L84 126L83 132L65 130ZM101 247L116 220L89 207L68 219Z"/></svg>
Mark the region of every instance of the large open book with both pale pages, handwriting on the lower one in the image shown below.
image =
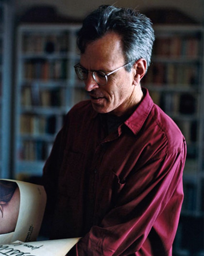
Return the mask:
<svg viewBox="0 0 204 256"><path fill-rule="evenodd" d="M78 242L36 241L46 200L43 186L0 179L0 255L64 256Z"/></svg>

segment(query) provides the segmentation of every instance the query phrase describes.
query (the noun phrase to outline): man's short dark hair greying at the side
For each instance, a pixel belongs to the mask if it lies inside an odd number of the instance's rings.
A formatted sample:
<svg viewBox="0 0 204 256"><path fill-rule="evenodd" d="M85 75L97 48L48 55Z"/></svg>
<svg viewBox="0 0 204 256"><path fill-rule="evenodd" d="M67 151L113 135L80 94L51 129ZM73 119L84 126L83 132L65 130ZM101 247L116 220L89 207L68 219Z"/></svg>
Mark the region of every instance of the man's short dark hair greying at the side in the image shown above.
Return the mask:
<svg viewBox="0 0 204 256"><path fill-rule="evenodd" d="M155 40L149 18L131 8L99 6L83 20L78 33L77 46L81 54L85 52L87 44L108 32L115 32L121 36L126 63L144 58L147 61L147 68L149 67ZM126 70L130 69L130 65L127 65Z"/></svg>

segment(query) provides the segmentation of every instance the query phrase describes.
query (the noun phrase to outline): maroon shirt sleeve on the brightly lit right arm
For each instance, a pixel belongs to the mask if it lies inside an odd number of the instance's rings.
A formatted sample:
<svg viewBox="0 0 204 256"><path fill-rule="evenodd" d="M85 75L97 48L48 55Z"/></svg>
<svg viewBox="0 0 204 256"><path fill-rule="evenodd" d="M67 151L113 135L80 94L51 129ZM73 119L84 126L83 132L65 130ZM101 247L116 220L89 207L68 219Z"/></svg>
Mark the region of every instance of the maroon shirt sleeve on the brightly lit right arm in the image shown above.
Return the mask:
<svg viewBox="0 0 204 256"><path fill-rule="evenodd" d="M138 170L154 173L145 187L137 174L127 177L117 204L77 243L76 255L169 255L183 202L185 156L184 142L182 150L151 159Z"/></svg>

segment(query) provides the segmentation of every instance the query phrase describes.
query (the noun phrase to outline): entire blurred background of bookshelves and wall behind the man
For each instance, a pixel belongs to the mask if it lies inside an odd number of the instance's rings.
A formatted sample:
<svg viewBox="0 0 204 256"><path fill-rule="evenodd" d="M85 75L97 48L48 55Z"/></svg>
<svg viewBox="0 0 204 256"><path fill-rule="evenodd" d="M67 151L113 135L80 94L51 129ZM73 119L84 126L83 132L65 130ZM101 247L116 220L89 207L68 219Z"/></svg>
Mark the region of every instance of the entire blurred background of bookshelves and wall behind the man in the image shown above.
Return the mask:
<svg viewBox="0 0 204 256"><path fill-rule="evenodd" d="M67 111L87 99L74 73L77 31L104 0L0 0L0 178L40 183ZM204 2L118 0L151 18L156 35L142 86L188 146L174 256L204 256ZM160 255L158 255L160 256ZM162 255L161 255L162 256Z"/></svg>

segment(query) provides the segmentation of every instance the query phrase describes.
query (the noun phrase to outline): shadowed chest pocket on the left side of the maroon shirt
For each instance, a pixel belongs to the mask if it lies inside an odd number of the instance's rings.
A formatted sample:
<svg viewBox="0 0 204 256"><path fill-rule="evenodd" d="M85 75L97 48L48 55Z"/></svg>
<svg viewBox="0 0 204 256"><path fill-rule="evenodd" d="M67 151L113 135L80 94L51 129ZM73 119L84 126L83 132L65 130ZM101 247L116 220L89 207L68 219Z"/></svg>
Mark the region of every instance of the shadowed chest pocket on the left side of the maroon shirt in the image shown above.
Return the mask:
<svg viewBox="0 0 204 256"><path fill-rule="evenodd" d="M83 176L83 157L81 152L65 151L59 174L59 193L76 197Z"/></svg>

